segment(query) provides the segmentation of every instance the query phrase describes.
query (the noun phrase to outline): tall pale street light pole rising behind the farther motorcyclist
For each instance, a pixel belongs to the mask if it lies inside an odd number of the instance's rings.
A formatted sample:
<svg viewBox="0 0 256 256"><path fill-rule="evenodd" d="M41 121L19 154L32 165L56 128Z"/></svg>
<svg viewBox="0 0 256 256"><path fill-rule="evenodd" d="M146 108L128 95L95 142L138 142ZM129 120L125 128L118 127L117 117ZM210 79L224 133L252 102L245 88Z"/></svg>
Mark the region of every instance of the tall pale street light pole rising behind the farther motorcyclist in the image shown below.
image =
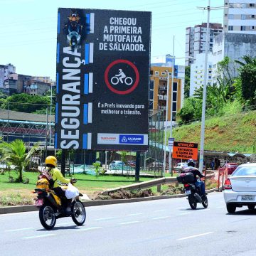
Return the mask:
<svg viewBox="0 0 256 256"><path fill-rule="evenodd" d="M205 119L206 119L206 87L207 87L207 74L208 74L208 48L209 48L209 21L210 21L210 0L208 0L208 15L207 15L207 28L206 28L206 55L204 66L204 79L203 79L203 105L202 105L202 121L201 121L201 142L200 142L200 159L199 171L203 172L203 147L205 139Z"/></svg>

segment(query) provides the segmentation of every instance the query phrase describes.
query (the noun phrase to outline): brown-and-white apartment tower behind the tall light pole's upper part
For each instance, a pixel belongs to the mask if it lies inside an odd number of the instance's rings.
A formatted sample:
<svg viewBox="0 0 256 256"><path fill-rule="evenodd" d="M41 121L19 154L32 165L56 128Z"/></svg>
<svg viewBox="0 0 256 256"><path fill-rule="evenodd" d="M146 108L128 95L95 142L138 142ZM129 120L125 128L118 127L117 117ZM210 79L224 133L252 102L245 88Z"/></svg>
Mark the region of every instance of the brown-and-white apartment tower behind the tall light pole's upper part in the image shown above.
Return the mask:
<svg viewBox="0 0 256 256"><path fill-rule="evenodd" d="M210 52L213 51L213 38L223 32L223 26L220 23L209 23L209 46ZM206 52L206 31L207 23L186 28L186 60L185 65L191 65L196 59L198 53Z"/></svg>

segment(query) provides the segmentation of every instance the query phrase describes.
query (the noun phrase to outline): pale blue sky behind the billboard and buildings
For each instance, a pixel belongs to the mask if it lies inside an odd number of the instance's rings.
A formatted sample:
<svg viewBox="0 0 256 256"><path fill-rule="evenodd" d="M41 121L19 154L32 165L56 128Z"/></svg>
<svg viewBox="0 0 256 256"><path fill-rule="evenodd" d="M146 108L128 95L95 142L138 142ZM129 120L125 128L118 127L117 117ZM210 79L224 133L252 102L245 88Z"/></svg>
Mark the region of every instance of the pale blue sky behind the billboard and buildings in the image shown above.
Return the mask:
<svg viewBox="0 0 256 256"><path fill-rule="evenodd" d="M213 7L223 4L210 1ZM184 65L186 27L207 21L207 11L197 7L208 0L0 0L0 6L0 65L55 80L58 8L151 11L151 59L172 55L174 46L176 63ZM210 22L223 24L223 10L210 11Z"/></svg>

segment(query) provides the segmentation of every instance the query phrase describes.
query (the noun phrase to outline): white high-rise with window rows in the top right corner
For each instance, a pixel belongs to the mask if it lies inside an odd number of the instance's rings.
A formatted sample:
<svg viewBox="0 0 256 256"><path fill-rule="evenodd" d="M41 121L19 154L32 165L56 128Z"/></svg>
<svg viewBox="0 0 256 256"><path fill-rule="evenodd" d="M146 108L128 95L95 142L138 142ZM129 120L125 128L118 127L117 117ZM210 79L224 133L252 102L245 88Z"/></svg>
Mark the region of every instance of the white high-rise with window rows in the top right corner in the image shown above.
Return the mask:
<svg viewBox="0 0 256 256"><path fill-rule="evenodd" d="M256 1L225 0L223 26L225 32L256 34Z"/></svg>

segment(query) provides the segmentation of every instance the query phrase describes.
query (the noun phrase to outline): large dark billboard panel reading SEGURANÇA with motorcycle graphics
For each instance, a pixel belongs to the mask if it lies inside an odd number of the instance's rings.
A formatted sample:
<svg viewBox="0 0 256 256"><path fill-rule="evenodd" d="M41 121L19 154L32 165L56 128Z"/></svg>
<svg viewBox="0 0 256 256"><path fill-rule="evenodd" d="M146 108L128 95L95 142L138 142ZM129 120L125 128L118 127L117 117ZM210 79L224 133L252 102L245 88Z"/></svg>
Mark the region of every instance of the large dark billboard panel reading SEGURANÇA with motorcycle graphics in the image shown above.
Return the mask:
<svg viewBox="0 0 256 256"><path fill-rule="evenodd" d="M58 9L55 148L145 151L151 13Z"/></svg>

